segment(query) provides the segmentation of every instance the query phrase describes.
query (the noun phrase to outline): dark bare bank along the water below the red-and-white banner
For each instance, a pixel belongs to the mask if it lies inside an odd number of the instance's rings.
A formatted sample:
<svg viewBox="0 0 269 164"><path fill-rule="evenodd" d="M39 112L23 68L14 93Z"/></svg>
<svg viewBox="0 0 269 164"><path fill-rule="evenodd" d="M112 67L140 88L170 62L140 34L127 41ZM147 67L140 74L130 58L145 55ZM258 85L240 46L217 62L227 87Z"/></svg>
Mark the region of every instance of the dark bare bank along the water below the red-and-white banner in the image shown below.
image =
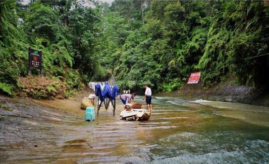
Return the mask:
<svg viewBox="0 0 269 164"><path fill-rule="evenodd" d="M230 80L212 87L201 84L184 84L180 91L160 93L158 96L171 96L190 100L210 100L223 102L239 102L269 107L269 92L263 88L232 84Z"/></svg>

